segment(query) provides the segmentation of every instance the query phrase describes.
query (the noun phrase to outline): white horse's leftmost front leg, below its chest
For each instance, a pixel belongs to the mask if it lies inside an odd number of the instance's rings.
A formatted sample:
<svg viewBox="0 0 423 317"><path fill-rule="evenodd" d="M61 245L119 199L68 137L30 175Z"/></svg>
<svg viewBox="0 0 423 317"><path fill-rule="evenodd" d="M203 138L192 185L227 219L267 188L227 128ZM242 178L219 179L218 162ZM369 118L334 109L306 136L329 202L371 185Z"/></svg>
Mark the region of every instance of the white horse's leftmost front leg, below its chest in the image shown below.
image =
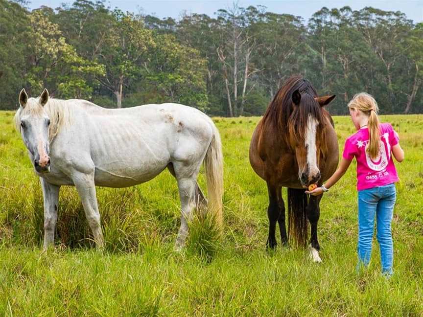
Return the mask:
<svg viewBox="0 0 423 317"><path fill-rule="evenodd" d="M48 183L40 177L44 197L44 247L46 251L54 242L60 186Z"/></svg>

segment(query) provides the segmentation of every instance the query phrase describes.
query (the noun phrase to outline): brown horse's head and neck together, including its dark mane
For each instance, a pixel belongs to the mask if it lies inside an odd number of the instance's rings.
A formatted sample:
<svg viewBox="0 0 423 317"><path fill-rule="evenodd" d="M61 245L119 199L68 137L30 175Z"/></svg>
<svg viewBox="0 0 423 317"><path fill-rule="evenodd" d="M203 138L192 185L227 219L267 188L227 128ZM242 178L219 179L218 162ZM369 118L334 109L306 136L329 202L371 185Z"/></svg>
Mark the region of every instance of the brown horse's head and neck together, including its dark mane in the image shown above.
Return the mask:
<svg viewBox="0 0 423 317"><path fill-rule="evenodd" d="M273 136L286 144L298 163L303 187L320 180L320 154L326 152L325 131L329 113L323 108L335 95L318 97L308 80L289 78L273 98L263 117Z"/></svg>

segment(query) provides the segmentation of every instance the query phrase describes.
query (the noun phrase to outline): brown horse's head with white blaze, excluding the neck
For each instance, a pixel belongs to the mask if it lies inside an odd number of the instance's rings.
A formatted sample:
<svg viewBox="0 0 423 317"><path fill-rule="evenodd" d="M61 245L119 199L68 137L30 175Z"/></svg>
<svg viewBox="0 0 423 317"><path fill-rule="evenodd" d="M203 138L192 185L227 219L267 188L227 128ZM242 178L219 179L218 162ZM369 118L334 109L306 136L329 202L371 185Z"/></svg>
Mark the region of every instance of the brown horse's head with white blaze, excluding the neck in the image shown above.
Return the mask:
<svg viewBox="0 0 423 317"><path fill-rule="evenodd" d="M291 94L288 142L295 152L298 177L304 187L320 180L320 154L325 148L324 130L328 123L323 106L334 98L335 95L317 97L310 85Z"/></svg>

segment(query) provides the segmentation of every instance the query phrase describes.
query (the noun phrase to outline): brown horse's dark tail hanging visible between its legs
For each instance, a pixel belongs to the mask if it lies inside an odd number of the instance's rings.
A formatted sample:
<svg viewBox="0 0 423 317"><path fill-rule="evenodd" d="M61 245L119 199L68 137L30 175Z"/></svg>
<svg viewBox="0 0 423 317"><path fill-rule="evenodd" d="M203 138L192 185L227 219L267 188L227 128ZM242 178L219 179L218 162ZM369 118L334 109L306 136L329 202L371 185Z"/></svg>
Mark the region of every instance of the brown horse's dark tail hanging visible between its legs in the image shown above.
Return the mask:
<svg viewBox="0 0 423 317"><path fill-rule="evenodd" d="M297 246L307 244L307 196L305 189L288 188L288 237L294 238Z"/></svg>

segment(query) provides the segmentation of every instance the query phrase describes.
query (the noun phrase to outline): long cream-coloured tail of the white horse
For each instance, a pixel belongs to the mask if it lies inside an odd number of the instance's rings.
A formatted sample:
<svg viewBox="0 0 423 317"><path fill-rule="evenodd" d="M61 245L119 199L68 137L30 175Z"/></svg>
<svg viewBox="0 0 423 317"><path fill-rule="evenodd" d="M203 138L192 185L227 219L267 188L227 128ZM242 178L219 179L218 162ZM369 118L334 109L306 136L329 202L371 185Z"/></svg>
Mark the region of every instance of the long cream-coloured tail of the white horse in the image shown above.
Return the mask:
<svg viewBox="0 0 423 317"><path fill-rule="evenodd" d="M223 226L223 154L222 141L219 131L212 123L213 138L204 159L207 178L207 192L209 196L209 210L215 216L216 225L219 229Z"/></svg>

